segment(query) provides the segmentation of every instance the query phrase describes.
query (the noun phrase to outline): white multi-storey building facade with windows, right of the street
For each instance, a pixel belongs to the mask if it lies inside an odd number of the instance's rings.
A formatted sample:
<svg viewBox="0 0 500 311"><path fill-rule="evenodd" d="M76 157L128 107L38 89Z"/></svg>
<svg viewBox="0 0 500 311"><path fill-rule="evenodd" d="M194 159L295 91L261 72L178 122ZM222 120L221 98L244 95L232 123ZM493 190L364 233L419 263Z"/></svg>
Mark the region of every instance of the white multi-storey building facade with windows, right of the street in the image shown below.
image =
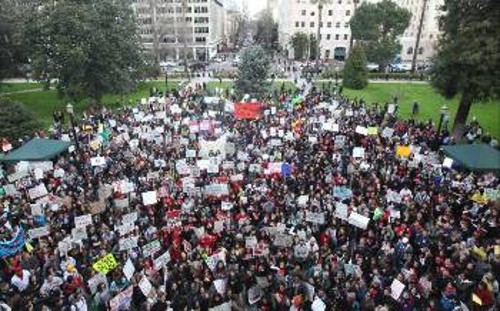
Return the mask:
<svg viewBox="0 0 500 311"><path fill-rule="evenodd" d="M361 0L362 2L379 2L380 0ZM401 37L401 58L411 61L418 32L418 24L424 0L393 0L401 7L407 8L413 16L408 29ZM439 7L444 0L428 0L420 40L420 52L417 55L419 62L424 62L435 53L435 44L439 36L438 21ZM358 4L360 5L360 4ZM351 29L349 20L354 15L354 0L331 0L322 10L323 26L321 27L321 58L335 58L335 52L349 52ZM273 15L278 21L279 43L293 57L290 40L296 32L305 32L316 36L318 23L318 6L312 5L309 0L278 0L273 9ZM337 53L337 58L342 57Z"/></svg>

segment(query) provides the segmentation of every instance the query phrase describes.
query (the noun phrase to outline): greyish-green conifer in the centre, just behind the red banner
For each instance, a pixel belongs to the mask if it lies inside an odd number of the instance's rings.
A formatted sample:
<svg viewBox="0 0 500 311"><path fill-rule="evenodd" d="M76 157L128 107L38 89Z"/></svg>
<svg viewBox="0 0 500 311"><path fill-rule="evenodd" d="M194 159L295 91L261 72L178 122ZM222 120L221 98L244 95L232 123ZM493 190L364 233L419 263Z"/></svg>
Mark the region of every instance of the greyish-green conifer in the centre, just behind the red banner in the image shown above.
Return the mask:
<svg viewBox="0 0 500 311"><path fill-rule="evenodd" d="M240 95L249 94L255 98L263 98L270 83L267 76L270 67L270 58L260 46L247 47L241 55L238 66L238 79L235 89Z"/></svg>

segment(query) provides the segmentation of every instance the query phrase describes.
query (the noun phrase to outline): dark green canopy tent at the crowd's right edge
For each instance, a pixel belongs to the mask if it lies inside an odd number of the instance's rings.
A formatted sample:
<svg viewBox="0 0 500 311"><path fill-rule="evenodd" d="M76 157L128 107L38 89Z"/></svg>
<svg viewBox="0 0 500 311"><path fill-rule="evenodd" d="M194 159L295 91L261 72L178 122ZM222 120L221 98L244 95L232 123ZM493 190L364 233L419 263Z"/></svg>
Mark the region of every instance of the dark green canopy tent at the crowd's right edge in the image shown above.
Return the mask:
<svg viewBox="0 0 500 311"><path fill-rule="evenodd" d="M471 171L500 171L500 151L487 144L444 146L446 155Z"/></svg>

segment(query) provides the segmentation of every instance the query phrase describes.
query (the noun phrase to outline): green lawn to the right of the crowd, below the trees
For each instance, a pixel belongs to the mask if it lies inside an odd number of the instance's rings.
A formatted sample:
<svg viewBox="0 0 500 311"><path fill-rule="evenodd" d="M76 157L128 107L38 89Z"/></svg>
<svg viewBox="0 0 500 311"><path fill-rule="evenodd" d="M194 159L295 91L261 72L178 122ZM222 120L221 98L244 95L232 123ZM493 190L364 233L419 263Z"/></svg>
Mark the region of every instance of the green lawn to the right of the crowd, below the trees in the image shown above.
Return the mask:
<svg viewBox="0 0 500 311"><path fill-rule="evenodd" d="M318 85L321 88L321 84ZM458 98L447 100L439 95L430 85L411 83L370 83L363 90L344 89L344 94L350 98L363 98L368 103L385 103L394 96L399 98L399 115L409 118L414 101L420 104L418 119L439 120L440 107L446 105L450 114L450 126L458 108ZM500 102L490 101L474 104L469 119L476 117L479 123L492 136L500 137Z"/></svg>

